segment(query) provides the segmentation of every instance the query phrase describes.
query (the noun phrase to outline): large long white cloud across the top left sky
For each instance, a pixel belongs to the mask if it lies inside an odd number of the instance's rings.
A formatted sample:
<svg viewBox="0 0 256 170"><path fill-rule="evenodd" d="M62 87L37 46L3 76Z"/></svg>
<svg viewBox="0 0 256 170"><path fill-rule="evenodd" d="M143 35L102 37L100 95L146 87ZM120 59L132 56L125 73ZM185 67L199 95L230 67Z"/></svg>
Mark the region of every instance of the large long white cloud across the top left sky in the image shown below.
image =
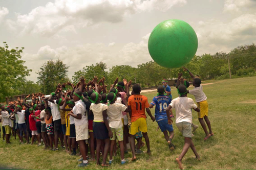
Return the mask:
<svg viewBox="0 0 256 170"><path fill-rule="evenodd" d="M61 30L73 31L100 22L121 22L126 15L136 12L166 11L176 4L186 4L186 0L55 0L45 7L37 7L28 14L17 14L16 20L8 20L12 31L51 37Z"/></svg>

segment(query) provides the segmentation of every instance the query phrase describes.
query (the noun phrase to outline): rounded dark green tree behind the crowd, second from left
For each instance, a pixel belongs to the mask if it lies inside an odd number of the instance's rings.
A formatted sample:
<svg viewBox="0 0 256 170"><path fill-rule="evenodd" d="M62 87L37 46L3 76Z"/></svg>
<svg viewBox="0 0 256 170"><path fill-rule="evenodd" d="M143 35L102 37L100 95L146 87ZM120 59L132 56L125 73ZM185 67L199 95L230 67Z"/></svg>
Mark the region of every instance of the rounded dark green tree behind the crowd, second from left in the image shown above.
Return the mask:
<svg viewBox="0 0 256 170"><path fill-rule="evenodd" d="M70 81L68 78L68 68L61 60L49 60L44 63L38 72L37 82L41 85L42 91L49 94L55 91L58 83Z"/></svg>

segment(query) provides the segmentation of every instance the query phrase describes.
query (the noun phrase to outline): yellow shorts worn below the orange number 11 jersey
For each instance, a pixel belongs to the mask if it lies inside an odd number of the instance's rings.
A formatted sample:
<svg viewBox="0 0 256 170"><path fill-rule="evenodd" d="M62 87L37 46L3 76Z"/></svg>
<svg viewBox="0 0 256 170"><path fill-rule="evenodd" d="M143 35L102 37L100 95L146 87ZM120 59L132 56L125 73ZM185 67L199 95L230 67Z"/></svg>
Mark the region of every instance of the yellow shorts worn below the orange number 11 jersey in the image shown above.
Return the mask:
<svg viewBox="0 0 256 170"><path fill-rule="evenodd" d="M147 132L146 119L144 117L140 117L135 122L132 122L129 133L135 135L139 132L139 129L142 133Z"/></svg>

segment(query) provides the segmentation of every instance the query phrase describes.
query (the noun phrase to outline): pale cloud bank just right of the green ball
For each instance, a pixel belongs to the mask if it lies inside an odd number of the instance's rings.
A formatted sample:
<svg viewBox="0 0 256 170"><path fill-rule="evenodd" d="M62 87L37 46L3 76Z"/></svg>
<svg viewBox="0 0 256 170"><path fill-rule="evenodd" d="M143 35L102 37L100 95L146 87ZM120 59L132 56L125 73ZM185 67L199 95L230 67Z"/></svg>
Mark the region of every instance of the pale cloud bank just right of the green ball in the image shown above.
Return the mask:
<svg viewBox="0 0 256 170"><path fill-rule="evenodd" d="M200 21L201 22L201 21ZM256 39L256 14L243 14L230 22L211 19L197 28L198 53L229 52Z"/></svg>

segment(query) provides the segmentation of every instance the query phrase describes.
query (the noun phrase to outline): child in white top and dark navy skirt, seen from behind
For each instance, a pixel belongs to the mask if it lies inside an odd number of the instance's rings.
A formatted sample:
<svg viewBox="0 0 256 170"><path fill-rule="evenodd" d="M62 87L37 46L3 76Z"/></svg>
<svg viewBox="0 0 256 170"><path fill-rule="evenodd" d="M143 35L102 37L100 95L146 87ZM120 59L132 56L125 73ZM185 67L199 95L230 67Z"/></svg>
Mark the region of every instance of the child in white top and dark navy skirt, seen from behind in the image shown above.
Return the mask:
<svg viewBox="0 0 256 170"><path fill-rule="evenodd" d="M90 113L94 115L93 119L93 134L97 140L97 147L96 147L96 159L97 164L99 165L99 156L100 156L100 147L101 143L104 140L104 154L101 166L109 166L106 163L106 157L108 156L109 145L110 145L110 138L113 136L113 133L109 127L109 121L106 118L106 109L108 106L105 104L100 103L101 95L98 92L94 92L91 94L91 101L92 104L90 106Z"/></svg>

